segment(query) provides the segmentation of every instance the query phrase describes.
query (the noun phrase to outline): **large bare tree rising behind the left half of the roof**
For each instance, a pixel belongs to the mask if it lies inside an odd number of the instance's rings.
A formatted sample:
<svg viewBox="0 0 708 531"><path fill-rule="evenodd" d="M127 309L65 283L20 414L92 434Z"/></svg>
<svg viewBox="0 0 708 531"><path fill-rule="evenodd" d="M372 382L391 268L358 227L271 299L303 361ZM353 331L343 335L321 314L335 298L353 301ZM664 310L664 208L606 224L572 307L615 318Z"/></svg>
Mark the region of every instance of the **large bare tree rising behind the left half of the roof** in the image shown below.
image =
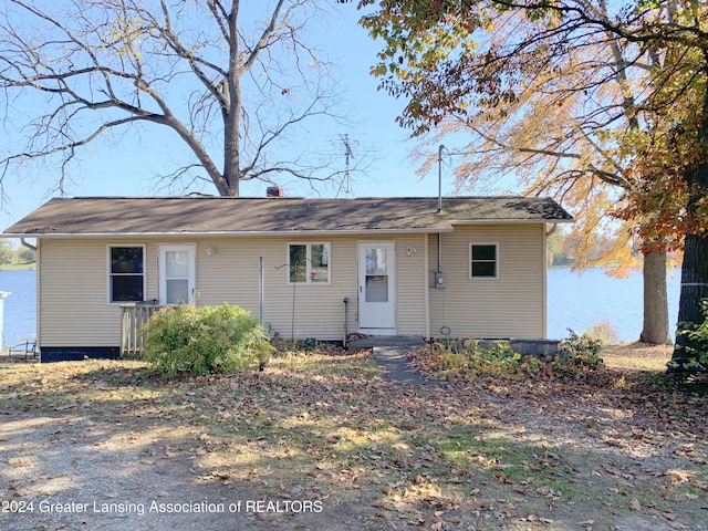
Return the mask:
<svg viewBox="0 0 708 531"><path fill-rule="evenodd" d="M27 145L0 159L0 184L28 160L70 177L81 148L139 124L165 126L190 160L166 186L205 179L238 196L250 179L326 180L326 163L284 148L304 122L340 119L331 64L305 43L314 0L1 0L6 121ZM38 100L38 94L44 98ZM43 106L39 106L41 102ZM13 112L14 111L14 112ZM13 124L17 129L17 126ZM205 175L206 174L206 175Z"/></svg>

